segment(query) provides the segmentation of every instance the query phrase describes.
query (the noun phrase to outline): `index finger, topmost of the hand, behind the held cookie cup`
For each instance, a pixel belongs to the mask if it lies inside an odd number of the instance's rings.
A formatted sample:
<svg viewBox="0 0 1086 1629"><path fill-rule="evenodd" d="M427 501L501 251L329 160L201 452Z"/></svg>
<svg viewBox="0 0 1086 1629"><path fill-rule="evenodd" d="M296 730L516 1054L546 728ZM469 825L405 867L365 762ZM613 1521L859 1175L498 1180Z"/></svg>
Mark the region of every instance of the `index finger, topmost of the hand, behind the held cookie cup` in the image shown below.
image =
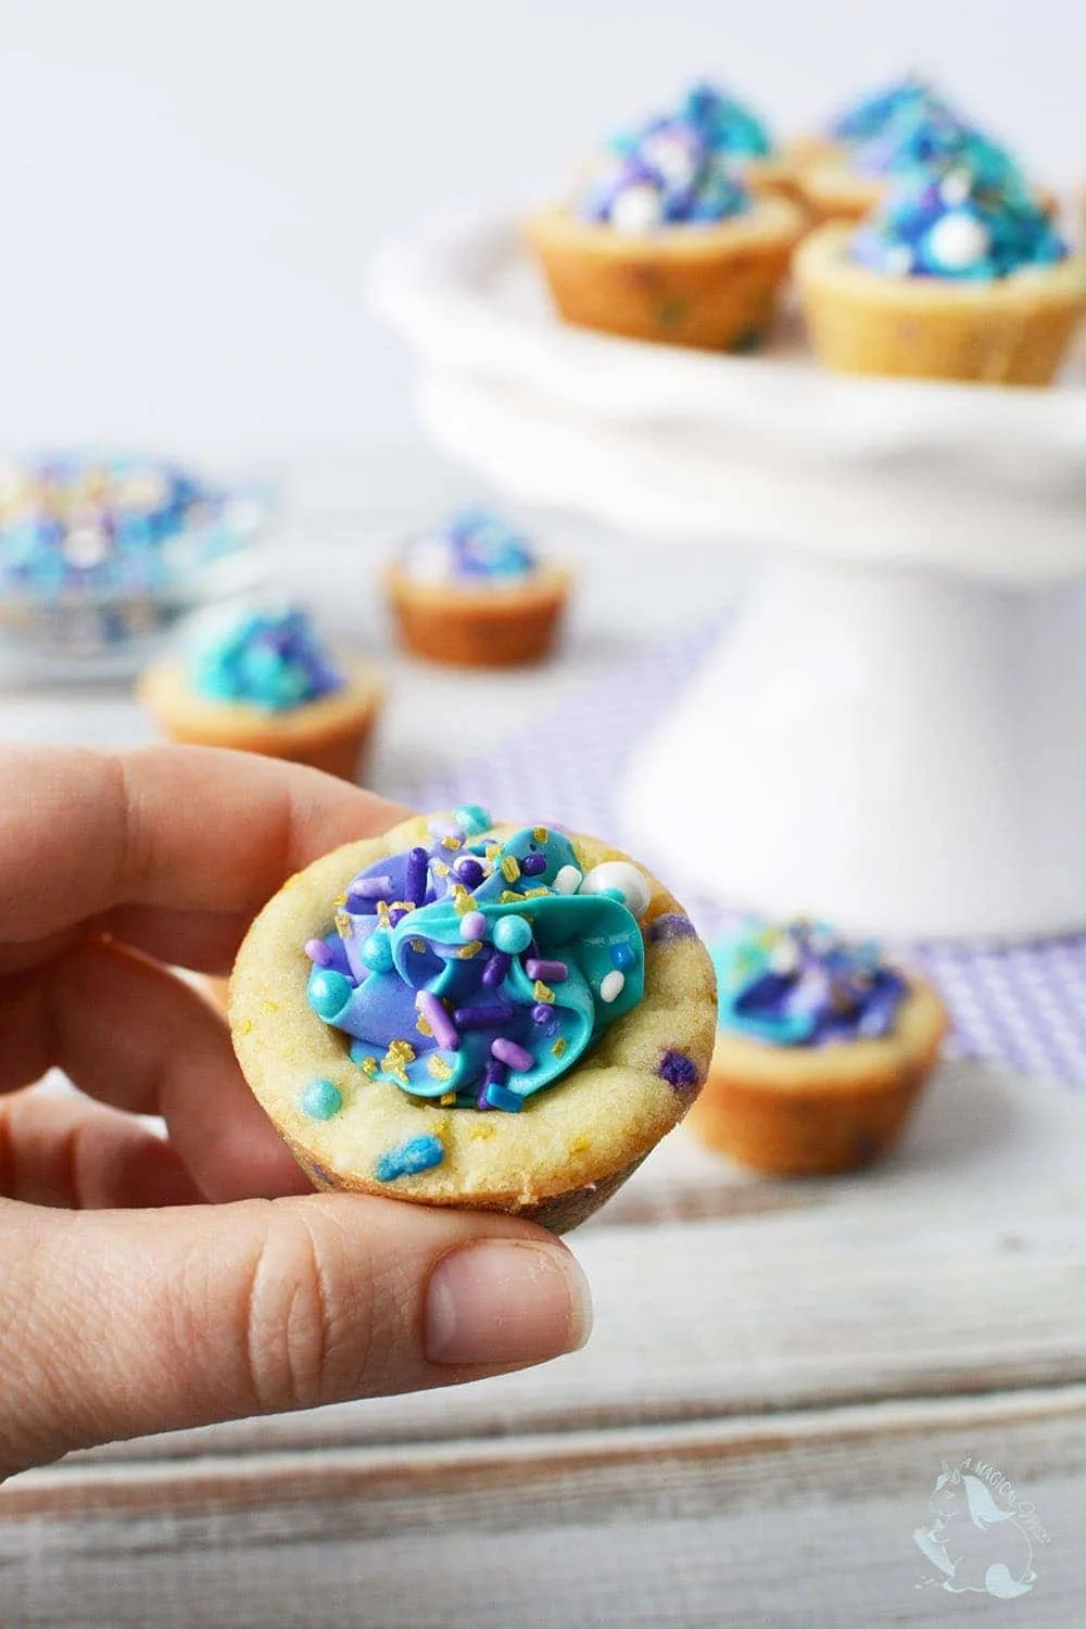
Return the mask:
<svg viewBox="0 0 1086 1629"><path fill-rule="evenodd" d="M316 769L204 746L0 748L5 937L122 906L254 914L329 849L405 811Z"/></svg>

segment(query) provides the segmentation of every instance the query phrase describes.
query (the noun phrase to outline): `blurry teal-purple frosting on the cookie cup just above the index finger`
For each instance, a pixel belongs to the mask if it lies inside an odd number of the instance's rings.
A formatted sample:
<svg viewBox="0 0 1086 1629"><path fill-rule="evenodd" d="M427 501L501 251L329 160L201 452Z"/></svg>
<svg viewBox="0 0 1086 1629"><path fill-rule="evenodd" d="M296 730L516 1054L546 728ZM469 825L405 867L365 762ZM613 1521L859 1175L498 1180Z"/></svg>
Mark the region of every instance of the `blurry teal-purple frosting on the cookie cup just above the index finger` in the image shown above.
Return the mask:
<svg viewBox="0 0 1086 1629"><path fill-rule="evenodd" d="M226 606L194 629L187 673L199 696L277 714L345 684L306 611Z"/></svg>

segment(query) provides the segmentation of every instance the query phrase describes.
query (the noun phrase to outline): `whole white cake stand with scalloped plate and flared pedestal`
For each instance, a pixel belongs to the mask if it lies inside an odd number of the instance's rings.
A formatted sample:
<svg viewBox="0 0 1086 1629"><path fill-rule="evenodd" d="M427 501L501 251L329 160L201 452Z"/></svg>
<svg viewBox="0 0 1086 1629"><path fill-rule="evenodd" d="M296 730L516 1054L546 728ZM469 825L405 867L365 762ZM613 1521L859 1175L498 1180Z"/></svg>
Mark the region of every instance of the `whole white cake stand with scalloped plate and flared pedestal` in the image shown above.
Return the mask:
<svg viewBox="0 0 1086 1629"><path fill-rule="evenodd" d="M510 492L765 547L628 766L628 839L676 886L902 938L1086 925L1081 363L972 389L834 378L795 332L757 358L578 332L503 222L388 249L374 296L436 438Z"/></svg>

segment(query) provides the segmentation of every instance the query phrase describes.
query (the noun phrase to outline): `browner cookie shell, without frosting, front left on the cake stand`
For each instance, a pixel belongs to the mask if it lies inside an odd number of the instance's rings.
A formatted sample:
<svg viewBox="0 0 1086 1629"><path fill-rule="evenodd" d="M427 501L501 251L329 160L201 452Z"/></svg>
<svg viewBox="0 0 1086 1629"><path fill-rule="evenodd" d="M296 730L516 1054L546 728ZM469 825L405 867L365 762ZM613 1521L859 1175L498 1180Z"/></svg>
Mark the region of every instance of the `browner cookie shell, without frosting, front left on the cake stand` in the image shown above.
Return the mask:
<svg viewBox="0 0 1086 1629"><path fill-rule="evenodd" d="M803 230L803 212L783 197L760 197L720 225L645 236L562 207L524 228L567 323L705 350L752 350L765 339Z"/></svg>

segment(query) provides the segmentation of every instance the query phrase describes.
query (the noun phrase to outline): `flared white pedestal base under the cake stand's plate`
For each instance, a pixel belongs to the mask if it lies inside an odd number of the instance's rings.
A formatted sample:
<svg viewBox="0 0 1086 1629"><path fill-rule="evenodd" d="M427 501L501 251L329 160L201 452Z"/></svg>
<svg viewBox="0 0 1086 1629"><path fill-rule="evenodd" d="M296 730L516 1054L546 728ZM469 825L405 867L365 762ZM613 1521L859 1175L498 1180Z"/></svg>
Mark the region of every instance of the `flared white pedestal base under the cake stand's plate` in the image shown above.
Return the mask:
<svg viewBox="0 0 1086 1629"><path fill-rule="evenodd" d="M1086 925L1076 585L780 555L635 753L676 889L891 938Z"/></svg>

